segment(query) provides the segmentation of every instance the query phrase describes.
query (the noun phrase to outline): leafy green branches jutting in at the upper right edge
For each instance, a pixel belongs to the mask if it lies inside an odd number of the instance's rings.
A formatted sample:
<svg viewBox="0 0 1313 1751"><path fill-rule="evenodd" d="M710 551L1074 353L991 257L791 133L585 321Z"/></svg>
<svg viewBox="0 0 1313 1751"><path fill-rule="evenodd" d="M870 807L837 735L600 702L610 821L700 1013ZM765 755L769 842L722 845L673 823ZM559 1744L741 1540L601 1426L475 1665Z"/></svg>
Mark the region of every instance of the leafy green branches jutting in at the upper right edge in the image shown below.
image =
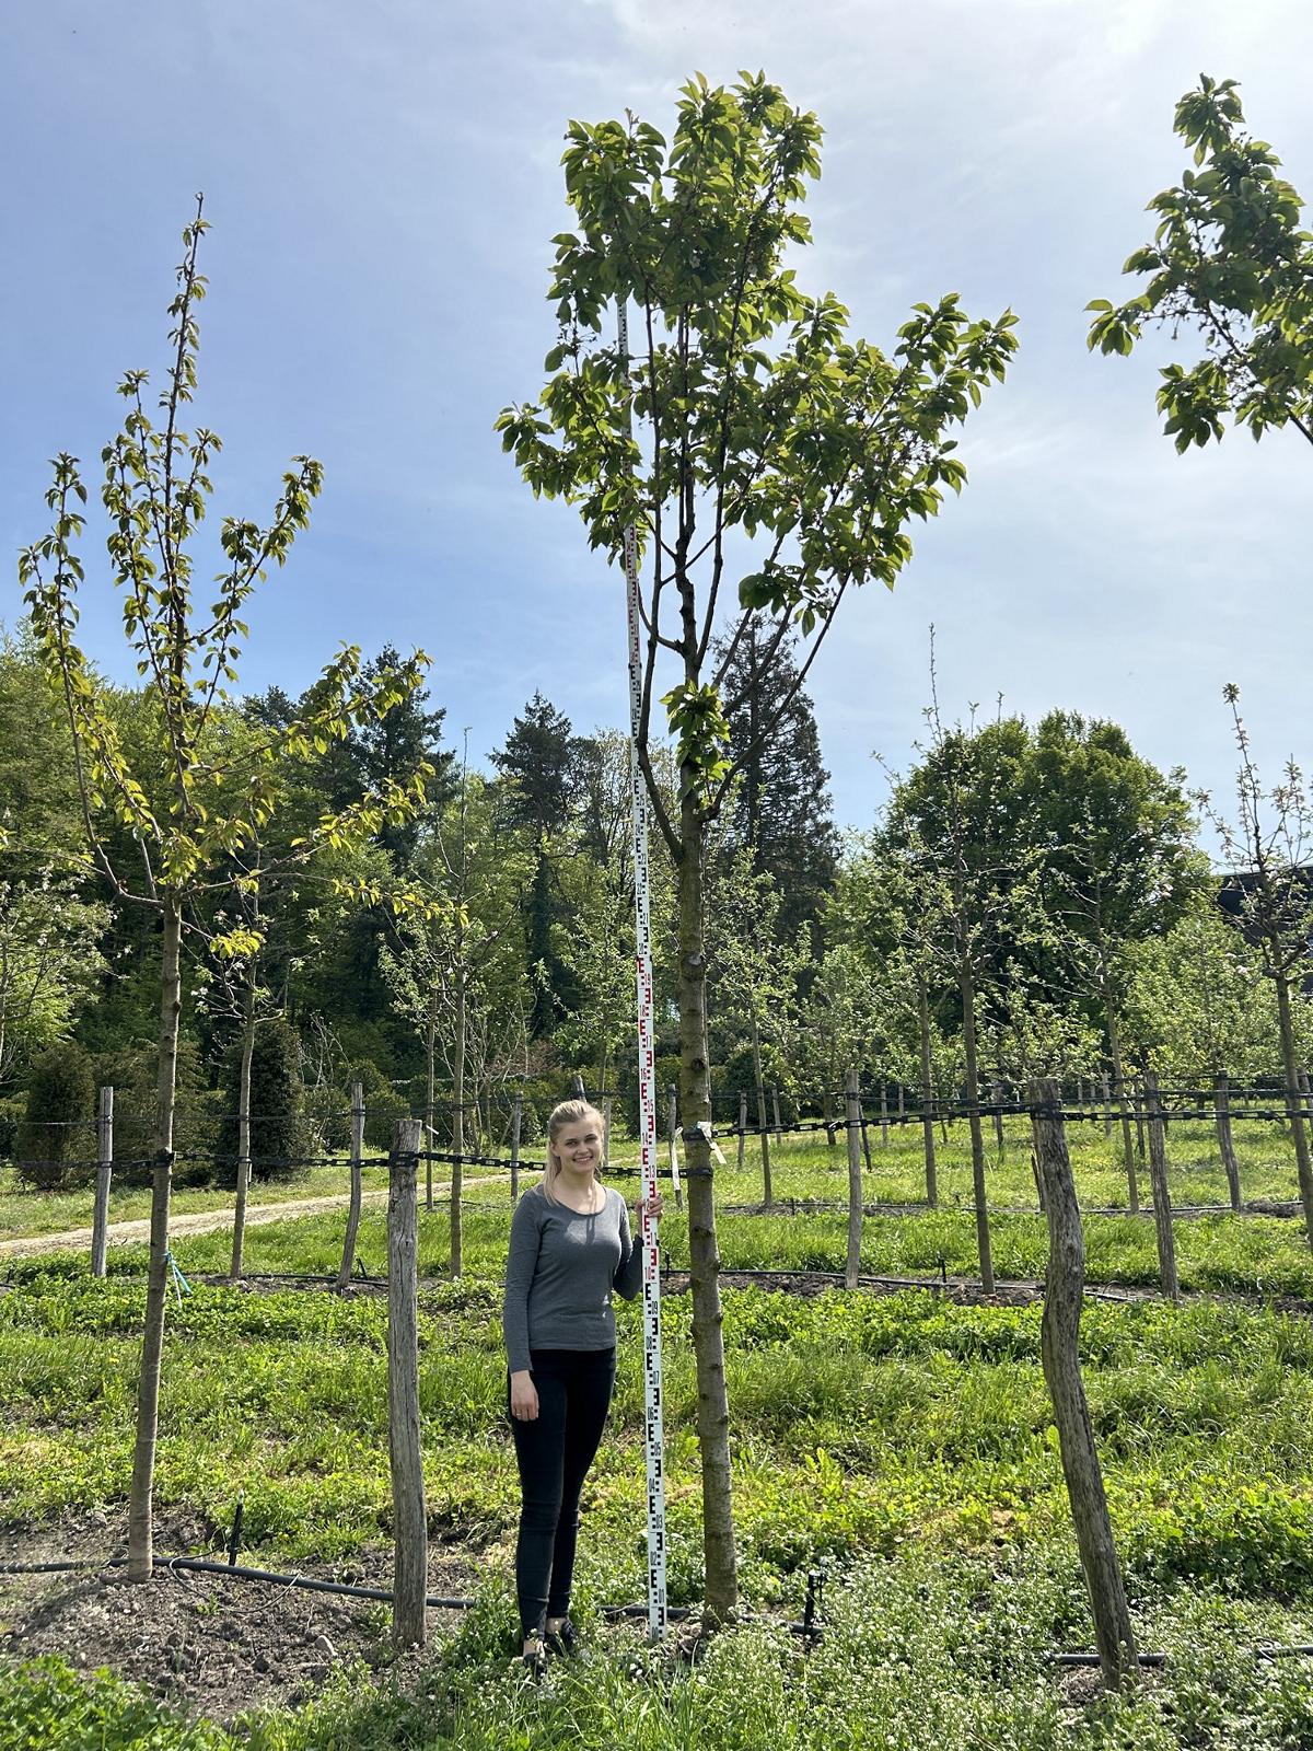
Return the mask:
<svg viewBox="0 0 1313 1751"><path fill-rule="evenodd" d="M1127 303L1096 298L1091 348L1129 354L1145 324L1194 331L1203 357L1159 375L1159 411L1178 450L1220 438L1227 415L1260 438L1294 425L1313 443L1313 238L1280 158L1243 131L1236 81L1201 77L1176 103L1175 130L1196 170L1155 194L1154 242L1126 273L1148 275ZM1203 168L1197 168L1203 166Z"/></svg>

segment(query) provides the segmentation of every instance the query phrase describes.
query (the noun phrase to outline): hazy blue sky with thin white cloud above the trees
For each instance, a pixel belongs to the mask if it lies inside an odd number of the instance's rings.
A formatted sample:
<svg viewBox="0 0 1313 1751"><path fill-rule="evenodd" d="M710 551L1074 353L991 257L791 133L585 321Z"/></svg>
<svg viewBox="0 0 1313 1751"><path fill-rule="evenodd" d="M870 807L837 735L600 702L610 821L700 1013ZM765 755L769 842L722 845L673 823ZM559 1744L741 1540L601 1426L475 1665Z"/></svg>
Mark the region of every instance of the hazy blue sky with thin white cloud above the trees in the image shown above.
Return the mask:
<svg viewBox="0 0 1313 1751"><path fill-rule="evenodd" d="M390 641L431 653L446 739L467 732L476 763L537 690L579 732L627 721L621 580L492 422L537 392L555 338L567 119L630 109L669 131L693 70L763 68L825 126L807 291L886 348L947 291L1019 315L1008 380L959 434L963 497L914 529L893 594L844 604L812 669L840 825L870 825L888 791L874 755L916 756L931 623L949 720L1000 699L1112 718L1225 795L1236 681L1271 781L1308 758L1309 447L1231 434L1176 455L1154 410L1171 347L1089 354L1084 313L1131 287L1201 72L1241 82L1250 130L1313 193L1308 0L42 0L9 9L5 39L0 546L47 527L56 452L96 483L123 371L163 382L203 189L214 529L268 515L294 454L326 471L252 602L243 692L298 693L341 643ZM84 643L126 681L93 555Z"/></svg>

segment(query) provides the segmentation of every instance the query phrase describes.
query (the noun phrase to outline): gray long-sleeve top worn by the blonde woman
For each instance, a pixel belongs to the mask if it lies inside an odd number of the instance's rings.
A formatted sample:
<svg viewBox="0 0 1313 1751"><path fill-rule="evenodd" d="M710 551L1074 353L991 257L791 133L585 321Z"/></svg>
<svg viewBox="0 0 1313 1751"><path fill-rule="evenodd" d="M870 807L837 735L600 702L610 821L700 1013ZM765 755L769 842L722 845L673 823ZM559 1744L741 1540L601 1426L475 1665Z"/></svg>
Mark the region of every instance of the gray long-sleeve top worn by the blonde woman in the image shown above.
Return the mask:
<svg viewBox="0 0 1313 1751"><path fill-rule="evenodd" d="M613 1185L595 1215L551 1203L532 1185L511 1217L502 1327L511 1373L530 1350L609 1350L616 1341L611 1292L632 1301L642 1287L642 1254L628 1233L625 1199Z"/></svg>

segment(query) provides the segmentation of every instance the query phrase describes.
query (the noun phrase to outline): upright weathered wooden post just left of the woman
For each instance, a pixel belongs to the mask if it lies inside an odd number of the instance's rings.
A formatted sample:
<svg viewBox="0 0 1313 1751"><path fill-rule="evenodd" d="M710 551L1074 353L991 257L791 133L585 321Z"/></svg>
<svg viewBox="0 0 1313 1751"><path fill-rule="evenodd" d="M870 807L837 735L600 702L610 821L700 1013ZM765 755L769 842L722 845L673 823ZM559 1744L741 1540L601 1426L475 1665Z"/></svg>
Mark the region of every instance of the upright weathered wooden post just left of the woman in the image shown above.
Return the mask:
<svg viewBox="0 0 1313 1751"><path fill-rule="evenodd" d="M387 1187L387 1443L392 1469L392 1641L422 1648L429 1516L420 1450L418 1154L422 1124L397 1121Z"/></svg>

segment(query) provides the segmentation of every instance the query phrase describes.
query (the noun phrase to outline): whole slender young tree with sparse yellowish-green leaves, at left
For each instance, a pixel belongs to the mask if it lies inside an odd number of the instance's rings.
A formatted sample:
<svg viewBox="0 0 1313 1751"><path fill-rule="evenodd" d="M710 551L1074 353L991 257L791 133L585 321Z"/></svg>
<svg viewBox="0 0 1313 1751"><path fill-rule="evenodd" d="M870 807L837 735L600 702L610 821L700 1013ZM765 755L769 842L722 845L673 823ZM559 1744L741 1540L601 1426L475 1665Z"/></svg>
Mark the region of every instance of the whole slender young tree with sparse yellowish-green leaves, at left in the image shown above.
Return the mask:
<svg viewBox="0 0 1313 1751"><path fill-rule="evenodd" d="M151 911L163 944L151 1266L128 1509L131 1579L147 1579L154 1562L152 1483L168 1290L184 921L203 897L242 888L242 877L231 874L233 861L277 812L287 762L324 751L352 725L385 716L415 690L422 664L415 657L364 681L359 651L345 650L324 671L312 707L296 723L271 730L254 758L243 749L236 765L222 760L214 721L224 709L228 685L236 679L235 664L247 630L242 615L268 566L282 566L305 529L320 489L320 466L310 457L294 459L270 524L224 520L224 569L215 601L208 608L198 604L189 543L205 517L212 490L208 468L219 438L205 427L187 432L180 420L196 389L196 305L205 294L196 254L205 231L198 200L196 219L182 235L186 254L170 305L173 357L159 396L159 418L147 411L147 373L130 371L121 383L128 403L123 429L102 452L110 571L124 592L124 630L151 693L152 734L145 760L128 756L77 643L77 588L84 569L75 545L84 532L81 506L88 492L75 457L56 459L54 483L46 496L54 525L19 559L42 664L63 697L86 842L116 898ZM306 861L322 846L375 832L385 819L403 819L422 795L424 774L387 779L347 809L324 812L292 853L292 861ZM126 828L140 876L110 854L107 821ZM226 947L243 953L250 947L250 933L229 932Z"/></svg>

